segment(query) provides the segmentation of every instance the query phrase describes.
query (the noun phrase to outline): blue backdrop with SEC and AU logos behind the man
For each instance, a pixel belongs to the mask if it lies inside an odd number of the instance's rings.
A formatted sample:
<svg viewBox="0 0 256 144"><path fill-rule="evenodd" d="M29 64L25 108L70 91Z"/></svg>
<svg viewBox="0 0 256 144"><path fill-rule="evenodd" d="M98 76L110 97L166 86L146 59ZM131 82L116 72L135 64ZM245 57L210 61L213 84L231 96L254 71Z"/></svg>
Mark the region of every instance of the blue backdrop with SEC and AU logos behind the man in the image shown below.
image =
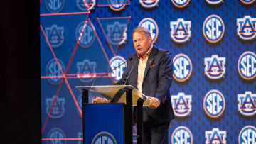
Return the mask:
<svg viewBox="0 0 256 144"><path fill-rule="evenodd" d="M75 86L100 76L96 85L117 82L125 67L104 73L135 52L137 26L149 28L154 44L174 58L169 143L255 143L255 0L40 4L42 143L82 143Z"/></svg>

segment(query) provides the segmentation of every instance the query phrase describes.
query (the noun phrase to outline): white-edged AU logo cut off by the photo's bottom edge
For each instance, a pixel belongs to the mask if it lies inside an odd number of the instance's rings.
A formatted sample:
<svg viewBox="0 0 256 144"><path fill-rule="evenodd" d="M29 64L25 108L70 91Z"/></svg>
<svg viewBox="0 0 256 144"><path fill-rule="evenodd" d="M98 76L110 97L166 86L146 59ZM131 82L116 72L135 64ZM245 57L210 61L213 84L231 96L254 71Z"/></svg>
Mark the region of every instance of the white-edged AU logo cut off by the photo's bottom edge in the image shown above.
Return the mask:
<svg viewBox="0 0 256 144"><path fill-rule="evenodd" d="M206 131L206 144L208 143L222 143L225 144L227 138L227 131L220 131L219 128L213 128L212 131Z"/></svg>

